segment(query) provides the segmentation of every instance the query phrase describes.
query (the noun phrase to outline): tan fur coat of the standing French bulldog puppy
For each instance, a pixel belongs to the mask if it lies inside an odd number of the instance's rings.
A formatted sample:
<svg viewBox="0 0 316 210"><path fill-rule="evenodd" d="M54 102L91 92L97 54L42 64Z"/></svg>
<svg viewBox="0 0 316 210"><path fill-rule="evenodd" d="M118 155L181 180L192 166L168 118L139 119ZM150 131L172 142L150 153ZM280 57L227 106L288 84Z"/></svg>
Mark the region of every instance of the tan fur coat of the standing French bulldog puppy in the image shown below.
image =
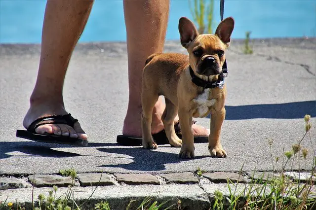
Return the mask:
<svg viewBox="0 0 316 210"><path fill-rule="evenodd" d="M192 117L205 117L209 113L211 113L211 125L208 149L211 156L226 157L226 152L219 139L221 126L225 119L226 85L222 89L210 88L203 92L202 87L198 87L191 81L189 65L198 77L206 81L217 80L218 75L198 74L197 66L203 62L207 57L206 55L212 55L222 67L225 54L220 58L216 52L218 50L225 51L228 45L220 39L220 35L198 35L195 30L193 30L194 34L191 35L190 32L194 27L192 25L190 20L180 19L180 35L182 35L181 33L184 34L181 37L181 43L187 48L189 56L179 53L159 53L149 56L146 61L142 84L143 147L149 149L158 147L151 135L151 118L158 96L163 95L166 100L166 108L162 115L165 132L172 146L181 146L180 157L194 158ZM190 40L192 37L195 37L194 40ZM203 49L204 56L197 58L193 55L197 47ZM206 100L206 103L203 104L203 100ZM200 113L201 111L204 113ZM175 134L173 126L177 113L179 114L182 140Z"/></svg>

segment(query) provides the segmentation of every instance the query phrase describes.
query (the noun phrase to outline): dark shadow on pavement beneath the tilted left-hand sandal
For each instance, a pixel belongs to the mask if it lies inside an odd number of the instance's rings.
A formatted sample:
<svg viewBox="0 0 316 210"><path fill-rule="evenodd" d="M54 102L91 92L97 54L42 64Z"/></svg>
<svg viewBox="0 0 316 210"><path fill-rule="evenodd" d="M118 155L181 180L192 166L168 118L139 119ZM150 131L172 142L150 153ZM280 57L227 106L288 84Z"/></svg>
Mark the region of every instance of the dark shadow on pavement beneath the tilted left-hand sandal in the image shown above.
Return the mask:
<svg viewBox="0 0 316 210"><path fill-rule="evenodd" d="M89 143L88 147L94 146L114 146L118 145L116 143ZM80 154L73 152L65 152L54 150L50 147L72 147L66 144L52 144L52 143L40 143L35 141L1 141L0 142L0 159L9 157L54 157L54 158L64 158L64 157L76 157L81 156ZM22 152L28 155L9 155L10 152Z"/></svg>

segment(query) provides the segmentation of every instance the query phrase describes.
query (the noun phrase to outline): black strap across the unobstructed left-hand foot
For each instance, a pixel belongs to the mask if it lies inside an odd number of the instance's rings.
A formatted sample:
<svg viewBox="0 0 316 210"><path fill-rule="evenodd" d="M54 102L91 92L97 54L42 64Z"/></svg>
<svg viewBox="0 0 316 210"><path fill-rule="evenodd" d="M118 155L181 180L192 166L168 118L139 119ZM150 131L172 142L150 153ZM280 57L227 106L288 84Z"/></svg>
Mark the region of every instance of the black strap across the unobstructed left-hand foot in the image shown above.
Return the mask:
<svg viewBox="0 0 316 210"><path fill-rule="evenodd" d="M33 123L31 123L27 130L35 132L36 128L46 124L66 124L74 127L76 122L78 122L78 119L75 119L70 113L65 115L49 115L36 119Z"/></svg>

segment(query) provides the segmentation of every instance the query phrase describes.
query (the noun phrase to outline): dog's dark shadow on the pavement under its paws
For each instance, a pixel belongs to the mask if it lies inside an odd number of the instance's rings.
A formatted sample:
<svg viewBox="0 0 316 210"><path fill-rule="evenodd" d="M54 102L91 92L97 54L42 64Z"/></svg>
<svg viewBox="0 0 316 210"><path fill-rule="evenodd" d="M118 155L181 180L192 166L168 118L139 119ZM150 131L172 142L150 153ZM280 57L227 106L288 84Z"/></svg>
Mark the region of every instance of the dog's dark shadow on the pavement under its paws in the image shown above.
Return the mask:
<svg viewBox="0 0 316 210"><path fill-rule="evenodd" d="M180 152L180 148L178 148ZM179 158L178 154L161 152L157 150L148 150L142 147L137 148L98 148L101 152L124 154L133 157L133 162L118 165L101 165L98 167L114 167L123 168L132 171L160 171L164 170L164 164L179 163L190 161L192 159ZM202 158L210 158L210 156L196 156L195 160Z"/></svg>

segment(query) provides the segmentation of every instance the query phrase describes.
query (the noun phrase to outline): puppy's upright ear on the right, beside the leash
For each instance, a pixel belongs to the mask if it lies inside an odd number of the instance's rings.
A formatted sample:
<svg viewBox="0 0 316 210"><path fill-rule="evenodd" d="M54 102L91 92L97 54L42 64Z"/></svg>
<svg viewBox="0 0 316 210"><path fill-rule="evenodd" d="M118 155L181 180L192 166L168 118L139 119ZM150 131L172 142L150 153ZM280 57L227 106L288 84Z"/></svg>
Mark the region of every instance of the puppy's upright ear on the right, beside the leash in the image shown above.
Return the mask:
<svg viewBox="0 0 316 210"><path fill-rule="evenodd" d="M222 22L220 22L215 32L215 35L217 35L227 47L229 47L231 42L234 25L235 21L233 17L225 18Z"/></svg>

